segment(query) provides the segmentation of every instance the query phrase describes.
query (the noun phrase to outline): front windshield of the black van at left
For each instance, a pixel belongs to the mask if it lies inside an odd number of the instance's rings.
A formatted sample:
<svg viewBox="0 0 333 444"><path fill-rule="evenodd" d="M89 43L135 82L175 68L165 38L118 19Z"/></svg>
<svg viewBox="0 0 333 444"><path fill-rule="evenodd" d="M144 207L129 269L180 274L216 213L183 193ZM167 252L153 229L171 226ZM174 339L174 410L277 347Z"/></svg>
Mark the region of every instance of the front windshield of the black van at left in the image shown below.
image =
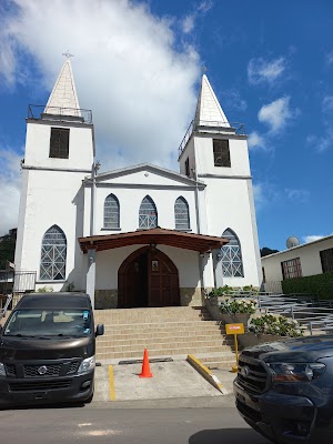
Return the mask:
<svg viewBox="0 0 333 444"><path fill-rule="evenodd" d="M4 336L87 336L92 332L89 310L17 310Z"/></svg>

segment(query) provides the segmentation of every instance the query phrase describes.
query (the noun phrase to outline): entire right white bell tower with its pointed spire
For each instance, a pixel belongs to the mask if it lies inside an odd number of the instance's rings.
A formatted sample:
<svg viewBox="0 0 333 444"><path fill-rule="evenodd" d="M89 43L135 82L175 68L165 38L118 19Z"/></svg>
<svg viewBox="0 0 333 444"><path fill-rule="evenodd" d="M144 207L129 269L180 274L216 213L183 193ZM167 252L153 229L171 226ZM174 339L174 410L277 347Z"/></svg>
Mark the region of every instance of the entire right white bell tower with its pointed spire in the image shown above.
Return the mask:
<svg viewBox="0 0 333 444"><path fill-rule="evenodd" d="M200 232L230 238L221 262L223 283L231 286L261 284L246 139L244 125L226 119L204 74L194 119L179 150L180 172L206 185L198 191Z"/></svg>

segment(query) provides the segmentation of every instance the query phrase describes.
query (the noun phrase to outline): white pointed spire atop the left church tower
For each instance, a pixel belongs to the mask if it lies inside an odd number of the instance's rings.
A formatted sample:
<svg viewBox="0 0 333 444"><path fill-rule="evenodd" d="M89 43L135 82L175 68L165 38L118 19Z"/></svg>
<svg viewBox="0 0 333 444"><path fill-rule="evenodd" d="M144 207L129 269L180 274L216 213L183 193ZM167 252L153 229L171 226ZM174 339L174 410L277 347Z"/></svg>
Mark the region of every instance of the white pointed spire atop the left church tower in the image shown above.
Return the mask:
<svg viewBox="0 0 333 444"><path fill-rule="evenodd" d="M44 113L80 117L80 105L70 62L71 54L64 54L65 61L60 70Z"/></svg>

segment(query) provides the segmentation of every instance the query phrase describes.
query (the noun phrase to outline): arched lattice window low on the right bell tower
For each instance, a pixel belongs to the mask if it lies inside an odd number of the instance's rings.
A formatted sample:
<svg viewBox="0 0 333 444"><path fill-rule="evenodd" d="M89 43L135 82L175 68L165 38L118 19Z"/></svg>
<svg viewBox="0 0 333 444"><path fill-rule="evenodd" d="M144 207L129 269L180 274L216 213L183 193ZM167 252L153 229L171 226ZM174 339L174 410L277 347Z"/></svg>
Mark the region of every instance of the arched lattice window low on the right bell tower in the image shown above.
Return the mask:
<svg viewBox="0 0 333 444"><path fill-rule="evenodd" d="M229 239L229 243L221 249L223 276L243 278L243 261L239 238L231 229L225 230L222 238Z"/></svg>

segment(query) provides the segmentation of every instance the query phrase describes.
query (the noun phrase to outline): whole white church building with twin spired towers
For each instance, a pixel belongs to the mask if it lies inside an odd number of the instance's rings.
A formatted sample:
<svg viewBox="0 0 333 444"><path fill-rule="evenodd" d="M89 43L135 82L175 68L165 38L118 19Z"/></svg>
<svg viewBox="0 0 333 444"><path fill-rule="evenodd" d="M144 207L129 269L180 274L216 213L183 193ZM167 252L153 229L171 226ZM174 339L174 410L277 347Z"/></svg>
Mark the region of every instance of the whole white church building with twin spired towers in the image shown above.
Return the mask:
<svg viewBox="0 0 333 444"><path fill-rule="evenodd" d="M87 291L95 309L201 305L214 286L260 286L239 129L203 75L179 172L143 163L100 173L67 59L27 119L16 271L36 271L37 290Z"/></svg>

